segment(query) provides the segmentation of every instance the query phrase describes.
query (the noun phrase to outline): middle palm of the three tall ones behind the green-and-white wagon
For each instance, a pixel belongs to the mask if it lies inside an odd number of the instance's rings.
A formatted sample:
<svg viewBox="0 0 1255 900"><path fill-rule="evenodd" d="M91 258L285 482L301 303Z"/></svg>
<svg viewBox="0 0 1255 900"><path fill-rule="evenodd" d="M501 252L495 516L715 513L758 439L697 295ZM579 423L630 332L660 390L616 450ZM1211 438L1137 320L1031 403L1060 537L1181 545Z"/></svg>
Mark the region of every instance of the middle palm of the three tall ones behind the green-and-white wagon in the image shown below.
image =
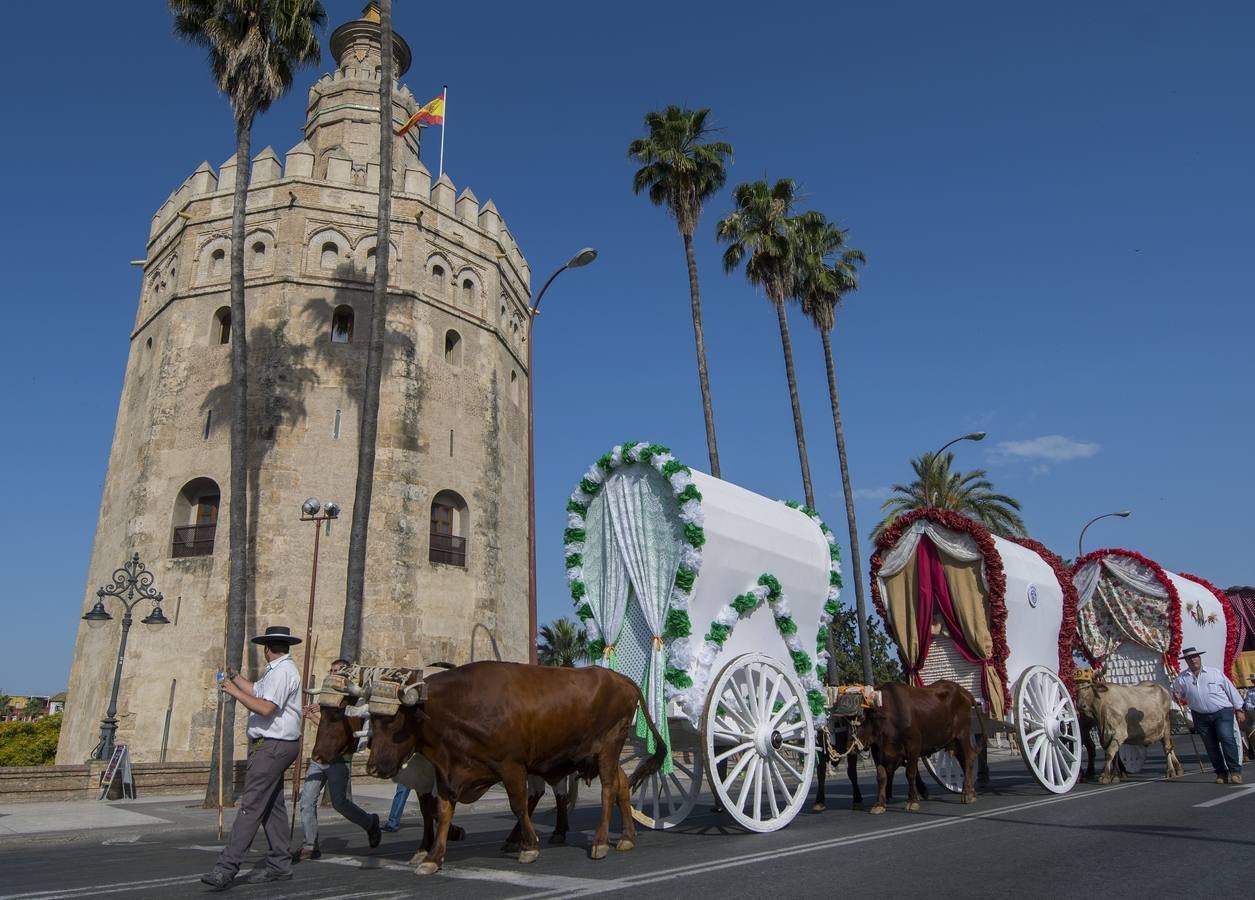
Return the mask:
<svg viewBox="0 0 1255 900"><path fill-rule="evenodd" d="M719 221L715 233L728 244L723 254L725 271L735 271L742 261L749 284L762 287L776 308L781 329L781 346L784 349L784 375L788 378L788 398L793 404L793 431L797 434L797 456L802 463L802 490L806 505L814 508L814 490L811 487L811 463L806 454L806 434L802 431L802 403L797 395L797 375L793 372L793 346L788 338L788 318L784 301L793 295L796 277L796 222L791 217L797 185L791 178L781 178L774 185L756 181L738 185L732 192L733 210Z"/></svg>

